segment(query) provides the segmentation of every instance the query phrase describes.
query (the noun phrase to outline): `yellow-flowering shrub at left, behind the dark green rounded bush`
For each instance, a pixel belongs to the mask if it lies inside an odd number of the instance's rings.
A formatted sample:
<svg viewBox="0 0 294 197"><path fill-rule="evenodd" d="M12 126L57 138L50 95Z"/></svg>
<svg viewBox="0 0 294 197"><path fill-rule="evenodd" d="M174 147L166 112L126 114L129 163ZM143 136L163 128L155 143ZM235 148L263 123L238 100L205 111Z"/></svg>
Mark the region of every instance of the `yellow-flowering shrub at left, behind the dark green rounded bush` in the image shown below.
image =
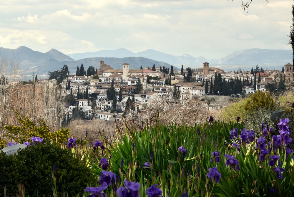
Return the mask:
<svg viewBox="0 0 294 197"><path fill-rule="evenodd" d="M58 144L65 143L69 137L68 128L60 128L57 131L51 132L44 120L39 120L39 125L36 125L28 117L16 113L20 125L6 125L4 129L7 130L7 135L11 140L18 143L21 141L29 141L33 136L40 137L47 140L57 141Z"/></svg>

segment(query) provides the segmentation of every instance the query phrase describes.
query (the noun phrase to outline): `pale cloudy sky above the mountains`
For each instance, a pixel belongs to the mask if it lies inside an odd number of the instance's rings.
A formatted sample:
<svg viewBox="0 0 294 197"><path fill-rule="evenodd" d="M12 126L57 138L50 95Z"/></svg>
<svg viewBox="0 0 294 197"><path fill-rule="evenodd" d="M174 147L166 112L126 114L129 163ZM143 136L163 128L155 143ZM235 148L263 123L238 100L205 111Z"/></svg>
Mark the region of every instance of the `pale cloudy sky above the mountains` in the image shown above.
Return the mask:
<svg viewBox="0 0 294 197"><path fill-rule="evenodd" d="M246 1L246 0L245 0ZM126 48L219 59L291 49L292 0L5 0L0 47L64 54Z"/></svg>

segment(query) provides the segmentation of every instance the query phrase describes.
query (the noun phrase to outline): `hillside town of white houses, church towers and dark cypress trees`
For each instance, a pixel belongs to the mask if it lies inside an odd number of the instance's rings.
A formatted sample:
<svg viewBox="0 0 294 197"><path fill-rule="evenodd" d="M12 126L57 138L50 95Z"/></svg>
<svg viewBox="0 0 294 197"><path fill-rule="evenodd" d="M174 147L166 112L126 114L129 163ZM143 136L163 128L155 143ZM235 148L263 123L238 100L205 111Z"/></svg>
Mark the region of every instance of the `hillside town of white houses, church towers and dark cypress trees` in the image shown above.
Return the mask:
<svg viewBox="0 0 294 197"><path fill-rule="evenodd" d="M146 107L160 100L181 103L199 99L203 110L217 111L258 90L282 91L286 82L293 82L293 65L288 63L281 68L264 70L257 65L251 71L226 72L204 62L197 69L184 70L182 66L175 70L173 66L155 64L151 68L131 69L124 62L122 69L113 69L101 60L99 69L89 67L86 72L82 64L75 75L60 81L62 95L67 97L62 109L67 119L78 116L84 120L122 121L123 116L133 118L134 114L144 118ZM43 79L38 83L52 88L58 81Z"/></svg>

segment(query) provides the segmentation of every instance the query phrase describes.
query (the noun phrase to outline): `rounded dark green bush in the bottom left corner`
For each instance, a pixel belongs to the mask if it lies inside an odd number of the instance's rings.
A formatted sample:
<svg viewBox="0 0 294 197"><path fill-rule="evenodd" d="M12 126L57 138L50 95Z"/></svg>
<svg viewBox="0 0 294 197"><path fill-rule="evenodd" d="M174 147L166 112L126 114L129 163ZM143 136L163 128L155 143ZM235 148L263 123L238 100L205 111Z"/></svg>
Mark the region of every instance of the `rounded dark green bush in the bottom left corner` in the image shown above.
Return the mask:
<svg viewBox="0 0 294 197"><path fill-rule="evenodd" d="M15 194L17 184L23 183L26 195L52 195L52 172L55 173L56 187L60 194L68 196L82 193L87 184L94 183L90 169L69 150L50 143L36 144L18 151L18 155L0 154L0 196L6 186L10 194ZM36 193L37 192L37 193Z"/></svg>

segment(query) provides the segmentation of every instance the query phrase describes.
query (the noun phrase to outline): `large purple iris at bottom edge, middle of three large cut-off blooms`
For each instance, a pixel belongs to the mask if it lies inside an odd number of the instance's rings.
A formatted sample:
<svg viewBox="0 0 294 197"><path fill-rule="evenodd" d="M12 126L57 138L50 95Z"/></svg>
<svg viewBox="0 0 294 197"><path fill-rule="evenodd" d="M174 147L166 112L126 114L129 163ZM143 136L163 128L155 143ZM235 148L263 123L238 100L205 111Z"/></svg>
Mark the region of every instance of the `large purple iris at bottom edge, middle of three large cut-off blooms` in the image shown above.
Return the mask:
<svg viewBox="0 0 294 197"><path fill-rule="evenodd" d="M139 197L140 183L124 180L124 187L119 187L116 191L118 197Z"/></svg>

